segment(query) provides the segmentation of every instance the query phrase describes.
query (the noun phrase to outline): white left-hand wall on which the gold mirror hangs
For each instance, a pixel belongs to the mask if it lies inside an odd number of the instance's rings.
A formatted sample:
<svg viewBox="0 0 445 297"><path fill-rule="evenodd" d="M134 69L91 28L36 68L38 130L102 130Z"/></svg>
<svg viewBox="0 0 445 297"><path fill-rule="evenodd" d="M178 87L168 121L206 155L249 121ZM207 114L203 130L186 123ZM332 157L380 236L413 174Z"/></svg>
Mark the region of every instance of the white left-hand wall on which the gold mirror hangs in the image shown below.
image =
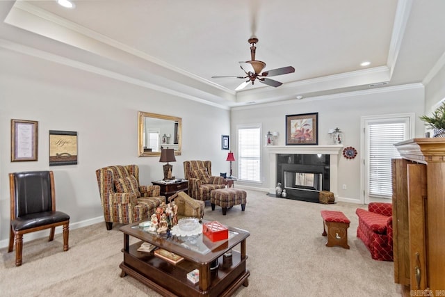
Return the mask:
<svg viewBox="0 0 445 297"><path fill-rule="evenodd" d="M182 118L176 177L189 159L211 160L218 175L228 170L221 135L229 134L229 111L0 49L0 247L9 236L9 172L54 170L56 205L71 228L103 220L98 168L135 163L141 184L162 179L159 157L138 157L138 111ZM38 161L10 161L11 119L38 121ZM77 165L49 167L49 130L77 131Z"/></svg>

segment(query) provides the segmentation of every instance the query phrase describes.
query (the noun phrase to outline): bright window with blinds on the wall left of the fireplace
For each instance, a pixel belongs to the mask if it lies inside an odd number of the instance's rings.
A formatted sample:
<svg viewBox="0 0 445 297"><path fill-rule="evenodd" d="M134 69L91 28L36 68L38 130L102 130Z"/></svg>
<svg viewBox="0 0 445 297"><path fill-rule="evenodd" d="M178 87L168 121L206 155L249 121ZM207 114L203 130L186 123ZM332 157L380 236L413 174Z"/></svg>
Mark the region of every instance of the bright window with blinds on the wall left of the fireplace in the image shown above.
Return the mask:
<svg viewBox="0 0 445 297"><path fill-rule="evenodd" d="M261 182L261 127L238 128L238 179Z"/></svg>

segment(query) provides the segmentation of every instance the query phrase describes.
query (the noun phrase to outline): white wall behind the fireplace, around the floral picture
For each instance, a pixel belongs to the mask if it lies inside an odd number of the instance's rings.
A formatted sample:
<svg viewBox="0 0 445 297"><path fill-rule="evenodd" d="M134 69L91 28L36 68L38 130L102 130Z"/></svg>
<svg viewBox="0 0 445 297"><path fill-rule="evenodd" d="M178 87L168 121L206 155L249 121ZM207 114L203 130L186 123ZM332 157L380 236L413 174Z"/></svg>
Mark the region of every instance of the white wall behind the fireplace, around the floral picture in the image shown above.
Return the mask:
<svg viewBox="0 0 445 297"><path fill-rule="evenodd" d="M286 115L318 112L318 145L329 145L327 131L339 127L344 133L344 146L353 146L358 155L349 160L339 157L339 200L361 202L360 164L362 148L360 147L360 118L364 115L384 115L393 113L415 113L416 137L423 137L423 124L419 116L424 109L424 89L420 84L403 87L366 90L356 93L344 93L334 96L292 100L278 104L263 104L232 110L232 135L236 136L236 125L261 123L263 145L267 131L278 131L277 145L286 144ZM236 152L236 137L232 137L232 150ZM236 154L235 154L236 155ZM268 152L262 150L261 188L268 188L270 172ZM237 175L237 163L234 164L234 175ZM346 184L346 190L341 185ZM249 184L245 184L249 185Z"/></svg>

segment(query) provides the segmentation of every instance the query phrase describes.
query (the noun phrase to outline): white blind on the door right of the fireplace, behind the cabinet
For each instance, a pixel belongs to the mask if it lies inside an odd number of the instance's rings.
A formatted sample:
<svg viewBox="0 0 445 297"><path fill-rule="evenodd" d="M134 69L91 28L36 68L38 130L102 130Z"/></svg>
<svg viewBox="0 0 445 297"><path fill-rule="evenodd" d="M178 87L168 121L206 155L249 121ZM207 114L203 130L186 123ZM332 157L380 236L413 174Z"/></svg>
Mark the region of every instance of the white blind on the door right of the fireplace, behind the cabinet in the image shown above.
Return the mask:
<svg viewBox="0 0 445 297"><path fill-rule="evenodd" d="M375 123L369 129L369 196L391 198L391 159L400 157L394 143L405 140L405 122Z"/></svg>

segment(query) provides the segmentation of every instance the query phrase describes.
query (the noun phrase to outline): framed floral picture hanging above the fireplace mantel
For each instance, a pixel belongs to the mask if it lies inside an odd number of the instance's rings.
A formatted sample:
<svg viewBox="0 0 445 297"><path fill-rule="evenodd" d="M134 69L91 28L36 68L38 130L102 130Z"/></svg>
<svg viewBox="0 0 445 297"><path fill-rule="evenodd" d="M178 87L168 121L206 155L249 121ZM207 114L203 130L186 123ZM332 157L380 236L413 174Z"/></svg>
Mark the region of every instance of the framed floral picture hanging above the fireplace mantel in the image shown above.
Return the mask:
<svg viewBox="0 0 445 297"><path fill-rule="evenodd" d="M318 145L318 113L286 115L286 145Z"/></svg>

